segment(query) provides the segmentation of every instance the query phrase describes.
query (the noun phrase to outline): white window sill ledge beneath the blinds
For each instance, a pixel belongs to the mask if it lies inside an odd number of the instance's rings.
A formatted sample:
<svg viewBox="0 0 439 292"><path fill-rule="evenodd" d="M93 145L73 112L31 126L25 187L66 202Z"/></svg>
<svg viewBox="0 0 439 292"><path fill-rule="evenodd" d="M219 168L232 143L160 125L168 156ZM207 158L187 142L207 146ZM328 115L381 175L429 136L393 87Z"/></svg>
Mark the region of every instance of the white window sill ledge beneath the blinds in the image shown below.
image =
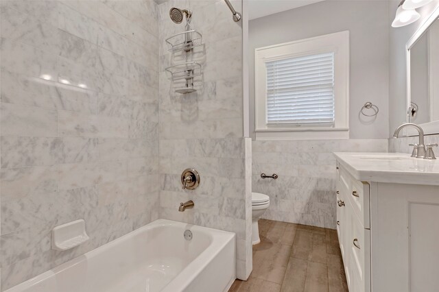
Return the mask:
<svg viewBox="0 0 439 292"><path fill-rule="evenodd" d="M327 140L348 139L348 128L300 128L300 129L261 129L255 130L256 140Z"/></svg>

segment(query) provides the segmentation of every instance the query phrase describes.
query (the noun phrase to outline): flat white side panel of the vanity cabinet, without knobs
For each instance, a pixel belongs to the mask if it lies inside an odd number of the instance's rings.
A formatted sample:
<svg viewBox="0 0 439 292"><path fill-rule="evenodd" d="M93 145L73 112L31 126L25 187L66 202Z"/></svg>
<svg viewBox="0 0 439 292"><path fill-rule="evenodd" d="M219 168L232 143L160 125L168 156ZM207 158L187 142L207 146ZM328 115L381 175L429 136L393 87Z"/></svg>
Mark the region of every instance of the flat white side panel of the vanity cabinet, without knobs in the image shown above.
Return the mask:
<svg viewBox="0 0 439 292"><path fill-rule="evenodd" d="M375 183L372 291L439 291L439 186Z"/></svg>

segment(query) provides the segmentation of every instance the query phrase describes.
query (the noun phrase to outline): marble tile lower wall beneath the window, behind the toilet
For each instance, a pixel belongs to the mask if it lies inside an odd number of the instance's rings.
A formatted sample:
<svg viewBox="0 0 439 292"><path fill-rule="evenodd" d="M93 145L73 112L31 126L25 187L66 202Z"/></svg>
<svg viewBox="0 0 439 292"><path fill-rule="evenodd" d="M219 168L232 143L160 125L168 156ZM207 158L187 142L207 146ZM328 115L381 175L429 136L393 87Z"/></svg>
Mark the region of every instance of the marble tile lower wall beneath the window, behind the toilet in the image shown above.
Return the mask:
<svg viewBox="0 0 439 292"><path fill-rule="evenodd" d="M263 218L335 229L332 152L387 152L388 141L252 141L252 148L252 191L270 197ZM262 179L261 173L276 173L278 179Z"/></svg>

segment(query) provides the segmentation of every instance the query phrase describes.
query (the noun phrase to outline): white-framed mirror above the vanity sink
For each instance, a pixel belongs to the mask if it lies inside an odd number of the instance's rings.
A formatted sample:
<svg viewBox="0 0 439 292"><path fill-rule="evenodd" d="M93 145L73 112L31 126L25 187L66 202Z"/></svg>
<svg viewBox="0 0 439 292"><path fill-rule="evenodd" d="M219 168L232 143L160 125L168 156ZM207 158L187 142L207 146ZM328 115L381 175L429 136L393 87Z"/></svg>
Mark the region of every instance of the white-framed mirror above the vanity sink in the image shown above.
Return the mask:
<svg viewBox="0 0 439 292"><path fill-rule="evenodd" d="M421 125L426 134L439 133L438 10L426 19L406 45L407 121Z"/></svg>

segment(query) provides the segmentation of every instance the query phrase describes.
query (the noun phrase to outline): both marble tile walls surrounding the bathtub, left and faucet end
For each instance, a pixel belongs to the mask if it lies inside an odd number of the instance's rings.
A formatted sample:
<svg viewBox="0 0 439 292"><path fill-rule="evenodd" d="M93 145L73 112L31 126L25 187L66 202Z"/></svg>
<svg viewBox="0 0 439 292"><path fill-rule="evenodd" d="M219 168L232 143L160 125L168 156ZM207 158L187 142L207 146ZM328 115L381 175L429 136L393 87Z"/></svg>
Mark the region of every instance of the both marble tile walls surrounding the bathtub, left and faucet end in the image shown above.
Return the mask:
<svg viewBox="0 0 439 292"><path fill-rule="evenodd" d="M242 138L241 26L227 6L0 3L2 289L159 217L236 232L246 279L252 149ZM165 38L184 29L169 19L171 5L193 10L204 34L198 93L178 95L166 79ZM187 167L202 177L193 192L181 190ZM195 208L178 212L187 199ZM82 218L91 240L51 250L51 229Z"/></svg>

